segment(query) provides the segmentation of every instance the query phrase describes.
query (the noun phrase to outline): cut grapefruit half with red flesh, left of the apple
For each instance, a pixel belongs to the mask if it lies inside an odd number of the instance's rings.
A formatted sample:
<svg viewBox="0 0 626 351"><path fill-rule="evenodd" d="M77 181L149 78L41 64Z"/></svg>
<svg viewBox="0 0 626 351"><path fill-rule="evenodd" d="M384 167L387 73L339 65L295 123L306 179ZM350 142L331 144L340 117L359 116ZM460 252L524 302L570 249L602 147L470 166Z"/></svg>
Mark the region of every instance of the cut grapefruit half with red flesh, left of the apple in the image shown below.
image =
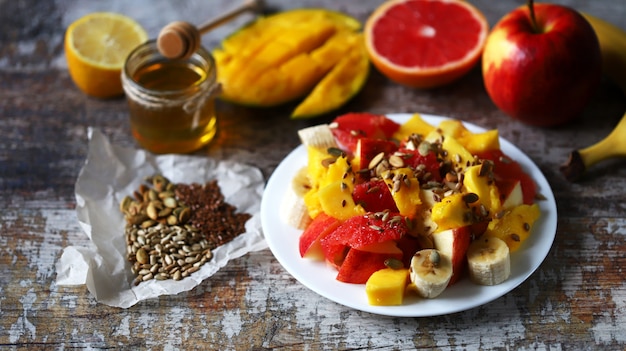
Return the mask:
<svg viewBox="0 0 626 351"><path fill-rule="evenodd" d="M434 88L476 65L489 24L462 0L389 0L365 24L365 45L374 66L389 79Z"/></svg>

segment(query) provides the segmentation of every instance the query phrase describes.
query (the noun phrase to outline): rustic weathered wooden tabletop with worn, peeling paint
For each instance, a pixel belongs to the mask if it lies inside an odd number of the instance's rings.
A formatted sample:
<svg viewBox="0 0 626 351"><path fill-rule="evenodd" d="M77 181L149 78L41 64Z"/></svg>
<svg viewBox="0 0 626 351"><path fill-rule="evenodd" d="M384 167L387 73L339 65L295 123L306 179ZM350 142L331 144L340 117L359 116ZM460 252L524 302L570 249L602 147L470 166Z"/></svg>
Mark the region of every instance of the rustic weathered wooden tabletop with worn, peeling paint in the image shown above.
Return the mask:
<svg viewBox="0 0 626 351"><path fill-rule="evenodd" d="M493 25L522 1L473 0ZM626 2L558 0L626 29ZM326 7L365 20L381 1L267 1L268 8ZM423 112L498 128L539 166L558 205L556 240L542 266L517 289L465 312L392 318L318 296L292 278L270 250L232 261L197 288L129 309L98 303L83 286L56 284L68 245L87 245L74 183L87 152L87 127L136 146L123 99L83 95L68 76L63 34L88 12L137 18L154 37L163 25L200 23L230 0L0 2L0 348L9 349L623 349L626 345L626 162L606 162L572 184L558 168L567 154L607 135L626 110L603 82L584 114L540 129L499 112L478 69L431 91L394 84L373 71L342 111ZM246 18L203 38L215 47ZM221 103L221 133L199 155L258 167L269 178L298 145L289 107L253 110Z"/></svg>

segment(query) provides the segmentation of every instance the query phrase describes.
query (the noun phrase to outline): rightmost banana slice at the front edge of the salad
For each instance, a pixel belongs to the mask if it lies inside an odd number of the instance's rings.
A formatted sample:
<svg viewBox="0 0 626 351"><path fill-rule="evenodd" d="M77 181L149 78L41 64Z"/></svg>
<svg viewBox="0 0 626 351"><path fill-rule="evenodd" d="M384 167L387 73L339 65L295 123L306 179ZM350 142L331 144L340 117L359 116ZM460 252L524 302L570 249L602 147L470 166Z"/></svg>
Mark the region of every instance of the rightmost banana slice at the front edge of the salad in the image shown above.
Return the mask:
<svg viewBox="0 0 626 351"><path fill-rule="evenodd" d="M496 237L474 240L467 249L470 278L480 285L497 285L511 275L511 256L506 243Z"/></svg>

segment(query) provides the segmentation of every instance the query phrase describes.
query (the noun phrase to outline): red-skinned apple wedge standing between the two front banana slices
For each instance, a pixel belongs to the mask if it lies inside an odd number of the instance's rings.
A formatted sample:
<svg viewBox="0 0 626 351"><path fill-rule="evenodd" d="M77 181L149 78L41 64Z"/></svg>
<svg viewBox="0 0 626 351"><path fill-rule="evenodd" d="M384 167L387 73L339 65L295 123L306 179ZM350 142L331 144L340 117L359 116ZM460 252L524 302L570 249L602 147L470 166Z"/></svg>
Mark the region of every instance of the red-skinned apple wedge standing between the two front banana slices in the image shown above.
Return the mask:
<svg viewBox="0 0 626 351"><path fill-rule="evenodd" d="M452 278L448 285L456 283L467 267L467 248L471 242L471 231L468 226L447 229L433 234L435 248L452 261Z"/></svg>

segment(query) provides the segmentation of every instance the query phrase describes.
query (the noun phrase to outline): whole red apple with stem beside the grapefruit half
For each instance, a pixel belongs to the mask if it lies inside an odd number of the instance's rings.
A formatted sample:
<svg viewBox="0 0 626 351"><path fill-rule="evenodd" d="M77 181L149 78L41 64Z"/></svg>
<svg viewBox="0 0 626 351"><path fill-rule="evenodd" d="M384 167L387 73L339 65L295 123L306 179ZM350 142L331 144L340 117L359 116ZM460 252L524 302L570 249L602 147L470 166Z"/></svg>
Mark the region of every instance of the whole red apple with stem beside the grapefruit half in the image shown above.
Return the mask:
<svg viewBox="0 0 626 351"><path fill-rule="evenodd" d="M556 126L578 116L599 84L600 45L575 10L530 0L493 27L482 71L503 112L530 125Z"/></svg>

